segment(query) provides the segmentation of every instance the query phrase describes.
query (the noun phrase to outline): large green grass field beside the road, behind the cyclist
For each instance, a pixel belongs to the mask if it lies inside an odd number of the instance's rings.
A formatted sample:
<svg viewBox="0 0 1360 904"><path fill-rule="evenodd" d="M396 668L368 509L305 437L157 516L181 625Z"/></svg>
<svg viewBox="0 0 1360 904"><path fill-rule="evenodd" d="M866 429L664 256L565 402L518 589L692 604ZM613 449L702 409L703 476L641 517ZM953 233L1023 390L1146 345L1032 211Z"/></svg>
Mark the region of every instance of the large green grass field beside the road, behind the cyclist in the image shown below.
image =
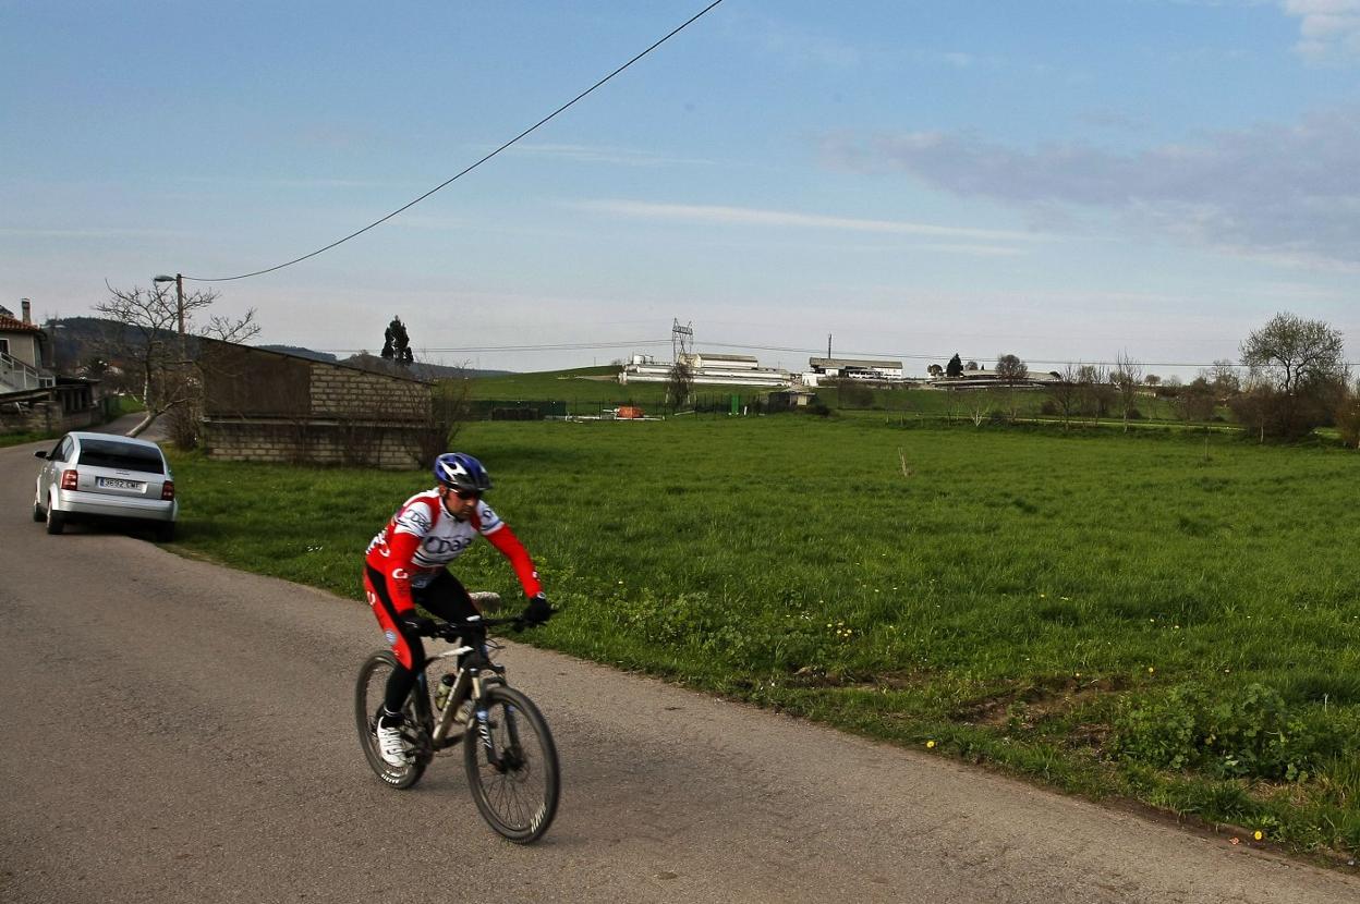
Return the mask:
<svg viewBox="0 0 1360 904"><path fill-rule="evenodd" d="M804 416L458 442L563 608L536 643L1360 850L1353 451ZM197 455L175 477L186 548L354 598L369 538L430 483ZM487 544L456 571L514 590Z"/></svg>

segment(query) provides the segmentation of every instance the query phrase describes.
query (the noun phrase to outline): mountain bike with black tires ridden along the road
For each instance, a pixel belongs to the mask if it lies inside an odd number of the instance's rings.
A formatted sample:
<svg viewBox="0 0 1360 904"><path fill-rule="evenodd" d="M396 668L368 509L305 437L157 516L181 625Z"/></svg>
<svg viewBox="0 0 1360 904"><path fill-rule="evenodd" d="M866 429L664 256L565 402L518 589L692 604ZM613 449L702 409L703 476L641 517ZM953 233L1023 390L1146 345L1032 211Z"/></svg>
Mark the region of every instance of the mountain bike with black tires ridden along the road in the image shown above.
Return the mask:
<svg viewBox="0 0 1360 904"><path fill-rule="evenodd" d="M495 594L473 598L483 612L499 605ZM403 735L412 752L407 765L390 765L378 753L378 714L388 677L397 666L390 650L378 650L359 669L355 720L369 765L394 788L419 782L435 753L475 738L464 744L462 759L477 810L509 840L530 844L543 837L558 812L558 750L543 714L506 682L505 666L491 659L503 647L488 638L487 628L499 625L526 627L520 617L483 616L461 625L439 625L438 636L452 642L453 648L426 658L403 707ZM441 691L431 700L427 673L446 659L456 659L457 667L438 682Z"/></svg>

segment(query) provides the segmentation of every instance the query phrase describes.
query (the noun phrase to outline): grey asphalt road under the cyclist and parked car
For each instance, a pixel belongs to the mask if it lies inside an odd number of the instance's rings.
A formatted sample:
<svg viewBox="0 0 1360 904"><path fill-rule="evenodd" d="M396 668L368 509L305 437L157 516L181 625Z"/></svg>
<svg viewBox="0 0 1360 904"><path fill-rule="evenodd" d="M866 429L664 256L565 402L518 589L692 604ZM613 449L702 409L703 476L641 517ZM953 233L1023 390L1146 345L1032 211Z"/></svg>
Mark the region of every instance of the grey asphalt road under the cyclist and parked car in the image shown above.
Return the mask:
<svg viewBox="0 0 1360 904"><path fill-rule="evenodd" d="M564 787L515 847L460 756L411 791L369 771L366 606L140 537L48 537L34 449L0 450L5 904L1360 900L1353 875L524 646L502 662Z"/></svg>

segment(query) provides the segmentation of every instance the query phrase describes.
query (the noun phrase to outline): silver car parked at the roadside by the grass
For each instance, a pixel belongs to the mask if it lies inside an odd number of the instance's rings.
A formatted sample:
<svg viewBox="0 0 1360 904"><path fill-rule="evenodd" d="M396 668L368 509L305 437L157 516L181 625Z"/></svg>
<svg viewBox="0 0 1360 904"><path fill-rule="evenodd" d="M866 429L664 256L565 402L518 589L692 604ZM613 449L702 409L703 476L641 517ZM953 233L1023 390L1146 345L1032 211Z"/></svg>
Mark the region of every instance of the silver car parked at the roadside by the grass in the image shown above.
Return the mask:
<svg viewBox="0 0 1360 904"><path fill-rule="evenodd" d="M135 519L155 526L156 540L174 540L180 503L160 447L113 434L67 434L45 459L33 498L33 519L58 534L68 521Z"/></svg>

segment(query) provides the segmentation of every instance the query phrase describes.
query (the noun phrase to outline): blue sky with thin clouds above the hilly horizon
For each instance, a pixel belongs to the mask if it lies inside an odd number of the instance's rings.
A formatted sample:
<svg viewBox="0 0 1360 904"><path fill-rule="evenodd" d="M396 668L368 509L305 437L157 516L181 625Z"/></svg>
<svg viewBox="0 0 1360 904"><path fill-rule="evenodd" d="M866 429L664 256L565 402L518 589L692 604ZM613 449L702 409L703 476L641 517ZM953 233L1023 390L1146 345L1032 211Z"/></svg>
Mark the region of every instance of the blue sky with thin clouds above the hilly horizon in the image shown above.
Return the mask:
<svg viewBox="0 0 1360 904"><path fill-rule="evenodd" d="M1186 378L1292 311L1360 360L1360 0L722 0L230 279L707 1L0 0L0 305L180 272L339 353Z"/></svg>

